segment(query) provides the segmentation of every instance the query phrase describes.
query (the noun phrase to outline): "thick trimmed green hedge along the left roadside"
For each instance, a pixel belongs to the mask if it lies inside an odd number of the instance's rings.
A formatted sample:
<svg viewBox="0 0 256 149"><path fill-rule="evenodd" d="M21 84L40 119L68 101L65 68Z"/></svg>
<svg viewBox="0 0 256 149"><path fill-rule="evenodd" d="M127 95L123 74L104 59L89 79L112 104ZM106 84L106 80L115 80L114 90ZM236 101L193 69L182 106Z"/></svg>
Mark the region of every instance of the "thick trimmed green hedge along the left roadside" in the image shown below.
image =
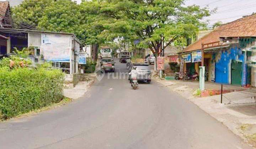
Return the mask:
<svg viewBox="0 0 256 149"><path fill-rule="evenodd" d="M0 119L59 102L63 98L63 78L59 70L0 68Z"/></svg>

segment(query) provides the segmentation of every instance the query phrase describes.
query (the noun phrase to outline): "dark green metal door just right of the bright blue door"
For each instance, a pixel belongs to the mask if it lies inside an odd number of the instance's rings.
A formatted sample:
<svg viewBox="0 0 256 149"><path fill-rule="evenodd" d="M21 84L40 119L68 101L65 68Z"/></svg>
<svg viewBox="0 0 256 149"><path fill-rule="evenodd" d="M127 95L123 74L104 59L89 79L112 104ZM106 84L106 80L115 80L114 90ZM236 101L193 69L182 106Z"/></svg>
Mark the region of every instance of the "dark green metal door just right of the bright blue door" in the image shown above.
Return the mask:
<svg viewBox="0 0 256 149"><path fill-rule="evenodd" d="M231 84L242 85L242 62L232 61Z"/></svg>

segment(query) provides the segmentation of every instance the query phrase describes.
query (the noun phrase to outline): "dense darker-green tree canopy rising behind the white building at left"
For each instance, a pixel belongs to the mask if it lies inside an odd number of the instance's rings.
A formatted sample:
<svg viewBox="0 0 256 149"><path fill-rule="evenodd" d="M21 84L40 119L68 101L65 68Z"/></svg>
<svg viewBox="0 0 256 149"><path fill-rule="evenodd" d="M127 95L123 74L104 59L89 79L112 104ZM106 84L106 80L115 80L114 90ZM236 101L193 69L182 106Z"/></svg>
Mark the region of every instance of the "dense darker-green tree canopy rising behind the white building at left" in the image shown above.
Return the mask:
<svg viewBox="0 0 256 149"><path fill-rule="evenodd" d="M97 5L77 5L71 0L24 0L12 8L12 18L17 27L26 23L43 31L71 32L81 42L94 44L99 42L96 37L102 29L96 21Z"/></svg>

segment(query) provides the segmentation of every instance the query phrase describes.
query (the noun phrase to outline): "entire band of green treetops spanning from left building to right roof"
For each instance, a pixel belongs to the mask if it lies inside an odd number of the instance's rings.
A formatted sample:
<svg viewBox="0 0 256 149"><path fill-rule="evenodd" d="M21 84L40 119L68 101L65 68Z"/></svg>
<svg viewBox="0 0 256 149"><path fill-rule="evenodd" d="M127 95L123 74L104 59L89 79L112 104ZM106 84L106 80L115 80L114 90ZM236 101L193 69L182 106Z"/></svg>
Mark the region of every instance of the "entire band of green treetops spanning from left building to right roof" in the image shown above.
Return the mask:
<svg viewBox="0 0 256 149"><path fill-rule="evenodd" d="M91 0L77 5L71 0L24 0L12 9L16 24L37 29L74 32L86 44L122 37L150 48L157 56L161 35L166 46L193 35L204 26L207 8L185 6L185 0Z"/></svg>

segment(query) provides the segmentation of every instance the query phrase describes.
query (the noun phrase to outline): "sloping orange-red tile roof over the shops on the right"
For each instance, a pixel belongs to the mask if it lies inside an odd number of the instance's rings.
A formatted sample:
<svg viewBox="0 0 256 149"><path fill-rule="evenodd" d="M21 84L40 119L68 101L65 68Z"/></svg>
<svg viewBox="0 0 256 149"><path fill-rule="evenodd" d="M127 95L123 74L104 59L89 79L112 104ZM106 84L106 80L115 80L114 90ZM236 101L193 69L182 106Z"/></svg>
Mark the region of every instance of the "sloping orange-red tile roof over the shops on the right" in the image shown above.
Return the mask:
<svg viewBox="0 0 256 149"><path fill-rule="evenodd" d="M220 37L256 37L256 14L224 24L187 46L182 52L201 49L202 43L218 42Z"/></svg>

